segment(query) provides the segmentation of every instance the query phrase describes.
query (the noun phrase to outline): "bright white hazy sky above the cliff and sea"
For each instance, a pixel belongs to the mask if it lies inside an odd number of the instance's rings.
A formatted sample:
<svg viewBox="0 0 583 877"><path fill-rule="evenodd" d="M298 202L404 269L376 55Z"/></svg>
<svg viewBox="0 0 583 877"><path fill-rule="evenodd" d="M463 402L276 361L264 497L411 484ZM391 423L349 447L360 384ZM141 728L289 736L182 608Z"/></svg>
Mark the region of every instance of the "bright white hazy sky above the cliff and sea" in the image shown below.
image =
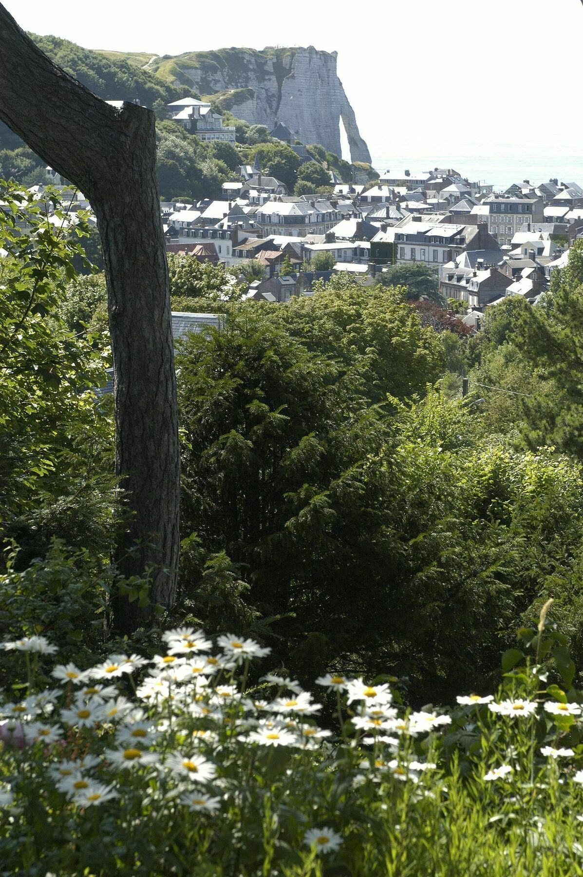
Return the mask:
<svg viewBox="0 0 583 877"><path fill-rule="evenodd" d="M88 48L338 52L373 157L583 144L580 0L4 0L25 30ZM423 148L420 147L423 144ZM526 146L524 146L526 145Z"/></svg>

